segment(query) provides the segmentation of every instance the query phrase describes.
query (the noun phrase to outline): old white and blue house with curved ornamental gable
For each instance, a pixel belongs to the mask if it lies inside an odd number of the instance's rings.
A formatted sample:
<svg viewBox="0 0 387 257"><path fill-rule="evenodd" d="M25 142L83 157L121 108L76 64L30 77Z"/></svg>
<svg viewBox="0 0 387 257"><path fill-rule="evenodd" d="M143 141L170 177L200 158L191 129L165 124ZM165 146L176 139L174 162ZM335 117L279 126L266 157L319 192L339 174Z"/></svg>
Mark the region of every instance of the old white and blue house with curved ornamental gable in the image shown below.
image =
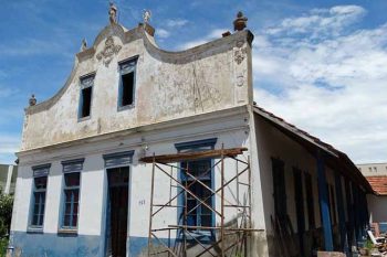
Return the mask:
<svg viewBox="0 0 387 257"><path fill-rule="evenodd" d="M373 191L343 152L253 104L243 14L232 34L167 52L149 13L127 30L116 12L25 109L13 254L349 251Z"/></svg>

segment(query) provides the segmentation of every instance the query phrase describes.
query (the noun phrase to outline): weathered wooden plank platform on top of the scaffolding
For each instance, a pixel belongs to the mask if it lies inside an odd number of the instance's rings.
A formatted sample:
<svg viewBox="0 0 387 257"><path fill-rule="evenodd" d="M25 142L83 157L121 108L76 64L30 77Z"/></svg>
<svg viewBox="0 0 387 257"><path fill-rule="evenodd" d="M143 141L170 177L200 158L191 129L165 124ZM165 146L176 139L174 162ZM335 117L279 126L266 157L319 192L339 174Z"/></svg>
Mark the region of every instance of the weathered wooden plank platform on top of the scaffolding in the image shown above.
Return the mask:
<svg viewBox="0 0 387 257"><path fill-rule="evenodd" d="M230 148L230 149L220 149L220 150L207 150L207 151L197 151L197 152L182 152L182 153L174 153L174 154L163 154L163 156L154 156L154 157L143 157L139 159L142 162L146 163L172 163L188 160L197 160L205 158L221 158L224 157L237 157L247 151L247 148Z"/></svg>

